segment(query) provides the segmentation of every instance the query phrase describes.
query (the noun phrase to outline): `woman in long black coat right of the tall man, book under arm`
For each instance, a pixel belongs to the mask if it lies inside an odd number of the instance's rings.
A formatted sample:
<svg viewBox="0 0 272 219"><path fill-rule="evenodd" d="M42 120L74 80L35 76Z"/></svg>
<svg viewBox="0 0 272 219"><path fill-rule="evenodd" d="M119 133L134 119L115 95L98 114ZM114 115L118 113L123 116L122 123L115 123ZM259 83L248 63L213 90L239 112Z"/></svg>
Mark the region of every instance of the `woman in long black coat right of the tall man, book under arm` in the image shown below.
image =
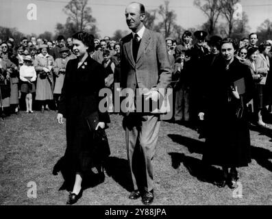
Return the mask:
<svg viewBox="0 0 272 219"><path fill-rule="evenodd" d="M251 162L246 104L252 99L254 83L248 66L234 57L231 39L222 41L221 55L212 64L209 76L205 107L199 113L201 120L205 114L207 125L203 162L223 168L219 187L227 183L234 188L236 168Z"/></svg>

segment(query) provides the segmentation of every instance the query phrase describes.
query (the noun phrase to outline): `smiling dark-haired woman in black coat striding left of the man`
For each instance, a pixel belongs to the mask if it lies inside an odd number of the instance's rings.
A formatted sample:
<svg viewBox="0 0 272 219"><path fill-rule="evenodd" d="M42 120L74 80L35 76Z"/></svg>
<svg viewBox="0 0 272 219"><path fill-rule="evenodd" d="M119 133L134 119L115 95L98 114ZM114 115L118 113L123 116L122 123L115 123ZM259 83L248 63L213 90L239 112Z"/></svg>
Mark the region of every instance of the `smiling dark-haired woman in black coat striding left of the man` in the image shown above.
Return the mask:
<svg viewBox="0 0 272 219"><path fill-rule="evenodd" d="M63 117L66 118L64 166L70 170L70 181L74 183L67 201L69 205L76 203L82 195L82 178L90 168L95 166L99 174L103 174L101 154L97 153L86 118L98 112L96 129L104 129L105 123L110 122L108 114L99 112L98 94L105 87L106 73L103 66L88 55L93 49L93 38L86 32L78 32L73 35L73 45L77 59L67 63L57 117L60 124ZM103 153L104 157L109 155L108 151Z"/></svg>

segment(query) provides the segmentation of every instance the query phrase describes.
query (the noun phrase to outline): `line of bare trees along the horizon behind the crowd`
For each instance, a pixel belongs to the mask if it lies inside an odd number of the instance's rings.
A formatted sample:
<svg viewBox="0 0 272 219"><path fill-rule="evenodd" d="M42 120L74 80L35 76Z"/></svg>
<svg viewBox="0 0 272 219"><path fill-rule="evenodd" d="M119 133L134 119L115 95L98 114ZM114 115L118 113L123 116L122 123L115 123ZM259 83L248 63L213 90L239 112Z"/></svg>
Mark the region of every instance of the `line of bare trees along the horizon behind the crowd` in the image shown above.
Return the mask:
<svg viewBox="0 0 272 219"><path fill-rule="evenodd" d="M248 25L248 16L245 12L241 15L240 20L234 18L236 13L234 5L239 0L194 0L195 7L199 8L205 14L207 21L199 27L189 28L189 31L201 29L207 31L210 36L220 35L222 37L243 38L248 36L250 27ZM88 0L71 0L63 8L67 15L66 23L57 23L55 25L55 33L45 31L42 34L31 34L36 38L45 38L47 40L55 40L62 35L65 38L73 35L77 31L88 31L95 38L100 38L99 29L96 19L92 16L92 10L88 6ZM148 10L145 14L145 26L154 31L164 34L164 37L173 37L181 39L185 29L177 24L177 14L175 10L170 10L169 1L164 1L157 9ZM5 40L8 36L13 36L18 42L25 34L16 28L0 27L1 38ZM265 20L257 29L257 33L262 40L272 39L272 21ZM128 31L117 29L111 38L119 40L128 34Z"/></svg>

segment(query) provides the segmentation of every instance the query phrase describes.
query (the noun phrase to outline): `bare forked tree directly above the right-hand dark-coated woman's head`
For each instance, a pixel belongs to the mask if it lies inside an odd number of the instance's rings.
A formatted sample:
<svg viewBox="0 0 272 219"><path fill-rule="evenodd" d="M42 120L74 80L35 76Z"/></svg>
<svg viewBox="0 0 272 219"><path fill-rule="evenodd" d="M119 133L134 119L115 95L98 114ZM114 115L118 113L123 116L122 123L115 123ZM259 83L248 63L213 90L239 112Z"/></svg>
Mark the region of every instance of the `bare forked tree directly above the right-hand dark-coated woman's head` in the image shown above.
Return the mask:
<svg viewBox="0 0 272 219"><path fill-rule="evenodd" d="M221 1L221 7L222 7L222 14L227 20L227 26L228 26L228 36L232 36L232 31L234 27L234 5L238 3L239 0L220 0Z"/></svg>

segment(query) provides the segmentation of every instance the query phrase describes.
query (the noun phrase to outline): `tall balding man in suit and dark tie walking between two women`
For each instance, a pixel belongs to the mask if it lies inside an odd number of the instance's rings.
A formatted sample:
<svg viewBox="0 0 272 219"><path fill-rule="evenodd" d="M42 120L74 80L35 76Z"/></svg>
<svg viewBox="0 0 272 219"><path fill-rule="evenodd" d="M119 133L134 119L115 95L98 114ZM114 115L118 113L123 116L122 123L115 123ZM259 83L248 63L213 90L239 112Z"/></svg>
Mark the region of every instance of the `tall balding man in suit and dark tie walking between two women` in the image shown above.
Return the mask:
<svg viewBox="0 0 272 219"><path fill-rule="evenodd" d="M140 99L156 102L163 97L160 90L169 86L172 77L164 38L143 25L144 5L129 4L125 18L132 33L121 40L121 87L133 90ZM129 198L142 196L143 204L149 205L154 197L152 162L160 128L159 115L138 112L137 108L137 112L127 112L123 122L134 190Z"/></svg>

